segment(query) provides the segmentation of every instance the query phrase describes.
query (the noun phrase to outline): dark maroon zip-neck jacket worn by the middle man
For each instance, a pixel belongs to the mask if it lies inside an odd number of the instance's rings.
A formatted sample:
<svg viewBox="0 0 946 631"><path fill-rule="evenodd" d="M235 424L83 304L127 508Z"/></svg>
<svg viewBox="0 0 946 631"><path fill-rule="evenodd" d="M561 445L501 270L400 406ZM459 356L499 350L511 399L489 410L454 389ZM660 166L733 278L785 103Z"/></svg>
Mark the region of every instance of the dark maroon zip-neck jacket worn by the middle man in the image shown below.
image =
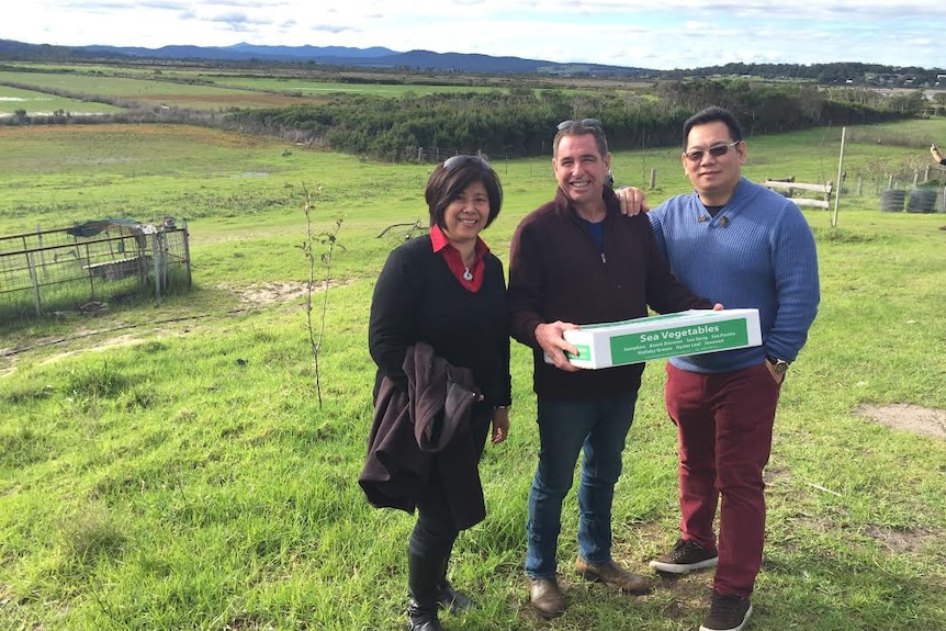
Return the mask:
<svg viewBox="0 0 946 631"><path fill-rule="evenodd" d="M513 337L533 349L533 388L549 398L597 398L635 392L643 363L565 372L545 363L536 327L562 320L577 325L711 308L673 275L646 215L627 217L605 188L604 250L583 225L567 195L527 215L509 248Z"/></svg>

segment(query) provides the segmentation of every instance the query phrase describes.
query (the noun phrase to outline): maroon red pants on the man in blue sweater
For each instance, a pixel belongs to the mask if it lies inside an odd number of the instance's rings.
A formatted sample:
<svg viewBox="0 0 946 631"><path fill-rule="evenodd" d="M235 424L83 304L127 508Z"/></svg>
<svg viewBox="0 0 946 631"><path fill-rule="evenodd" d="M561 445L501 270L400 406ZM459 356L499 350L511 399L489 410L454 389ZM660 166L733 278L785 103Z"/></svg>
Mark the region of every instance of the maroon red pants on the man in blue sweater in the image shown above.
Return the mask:
<svg viewBox="0 0 946 631"><path fill-rule="evenodd" d="M764 363L699 374L667 363L666 405L677 426L680 530L719 549L713 588L752 594L765 542L765 483L781 390ZM719 544L713 532L720 504Z"/></svg>

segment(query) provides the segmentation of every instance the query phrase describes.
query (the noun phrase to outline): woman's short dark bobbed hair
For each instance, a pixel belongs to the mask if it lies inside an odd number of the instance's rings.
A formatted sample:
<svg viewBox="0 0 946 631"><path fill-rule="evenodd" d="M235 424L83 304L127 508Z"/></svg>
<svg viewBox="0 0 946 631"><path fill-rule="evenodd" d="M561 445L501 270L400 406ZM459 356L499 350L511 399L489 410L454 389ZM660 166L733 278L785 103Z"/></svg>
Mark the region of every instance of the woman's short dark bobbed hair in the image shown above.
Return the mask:
<svg viewBox="0 0 946 631"><path fill-rule="evenodd" d="M427 180L427 206L430 209L430 225L446 228L443 213L450 202L473 182L483 182L486 195L489 198L489 217L486 226L499 215L503 205L503 185L499 176L485 159L480 156L453 156L438 165Z"/></svg>

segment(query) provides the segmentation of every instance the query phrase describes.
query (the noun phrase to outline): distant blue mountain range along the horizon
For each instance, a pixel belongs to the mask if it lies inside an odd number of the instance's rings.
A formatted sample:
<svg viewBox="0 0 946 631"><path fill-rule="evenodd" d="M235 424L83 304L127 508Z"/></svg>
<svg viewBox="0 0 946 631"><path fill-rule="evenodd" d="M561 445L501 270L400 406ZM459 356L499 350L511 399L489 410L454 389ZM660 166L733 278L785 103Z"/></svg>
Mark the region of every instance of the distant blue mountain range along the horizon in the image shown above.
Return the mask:
<svg viewBox="0 0 946 631"><path fill-rule="evenodd" d="M268 61L322 64L326 66L354 66L376 69L408 68L483 74L548 74L635 77L653 70L600 64L561 64L520 57L493 57L462 53L433 53L409 50L398 53L390 48L349 48L344 46L162 46L139 48L122 46L53 46L0 40L2 59L155 59L155 60L212 60L212 61Z"/></svg>

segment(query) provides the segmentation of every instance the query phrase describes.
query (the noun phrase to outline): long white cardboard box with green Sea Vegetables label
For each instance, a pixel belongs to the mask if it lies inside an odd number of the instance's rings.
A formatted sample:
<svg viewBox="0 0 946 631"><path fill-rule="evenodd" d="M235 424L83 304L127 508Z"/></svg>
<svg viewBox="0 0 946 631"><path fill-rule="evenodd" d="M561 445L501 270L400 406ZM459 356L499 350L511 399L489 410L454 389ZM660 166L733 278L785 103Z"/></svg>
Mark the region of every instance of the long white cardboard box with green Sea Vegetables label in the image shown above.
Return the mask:
<svg viewBox="0 0 946 631"><path fill-rule="evenodd" d="M758 309L690 309L565 331L579 368L608 368L762 345ZM547 358L548 360L548 358Z"/></svg>

